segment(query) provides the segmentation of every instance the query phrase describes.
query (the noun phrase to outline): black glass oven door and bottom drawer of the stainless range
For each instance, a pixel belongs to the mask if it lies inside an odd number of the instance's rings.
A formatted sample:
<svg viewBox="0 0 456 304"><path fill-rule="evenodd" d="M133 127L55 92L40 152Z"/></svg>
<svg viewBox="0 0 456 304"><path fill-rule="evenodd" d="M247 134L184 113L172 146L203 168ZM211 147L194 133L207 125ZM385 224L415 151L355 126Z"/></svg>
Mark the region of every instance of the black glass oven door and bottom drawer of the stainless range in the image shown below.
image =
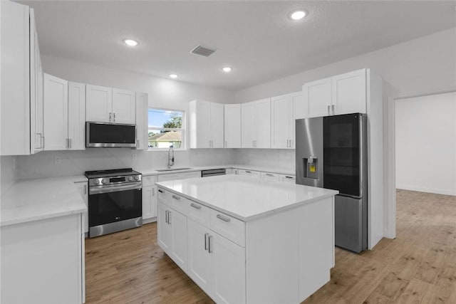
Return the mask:
<svg viewBox="0 0 456 304"><path fill-rule="evenodd" d="M140 226L142 224L141 219L141 184L109 188L90 187L88 196L88 226L90 227L90 237L114 232L111 230L120 229L122 228L120 226L125 226L125 224L129 226ZM97 228L93 229L93 227Z"/></svg>

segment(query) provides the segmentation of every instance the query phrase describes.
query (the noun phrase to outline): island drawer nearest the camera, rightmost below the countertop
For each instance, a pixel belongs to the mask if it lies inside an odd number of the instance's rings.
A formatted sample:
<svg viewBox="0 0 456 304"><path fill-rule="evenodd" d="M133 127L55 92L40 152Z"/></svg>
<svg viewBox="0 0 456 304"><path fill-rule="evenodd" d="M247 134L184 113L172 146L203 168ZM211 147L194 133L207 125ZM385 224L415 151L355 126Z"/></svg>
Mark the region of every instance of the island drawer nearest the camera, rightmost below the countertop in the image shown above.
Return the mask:
<svg viewBox="0 0 456 304"><path fill-rule="evenodd" d="M232 216L211 209L210 225L211 230L229 239L239 246L245 247L245 223L234 219Z"/></svg>

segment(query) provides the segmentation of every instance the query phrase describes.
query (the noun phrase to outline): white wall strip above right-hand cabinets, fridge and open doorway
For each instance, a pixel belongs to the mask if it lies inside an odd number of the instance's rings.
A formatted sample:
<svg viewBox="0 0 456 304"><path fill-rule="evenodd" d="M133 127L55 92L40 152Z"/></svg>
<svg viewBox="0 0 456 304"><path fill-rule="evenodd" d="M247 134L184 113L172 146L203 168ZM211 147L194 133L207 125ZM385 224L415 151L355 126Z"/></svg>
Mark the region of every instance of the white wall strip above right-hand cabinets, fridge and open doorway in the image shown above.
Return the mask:
<svg viewBox="0 0 456 304"><path fill-rule="evenodd" d="M456 88L456 28L306 70L236 93L237 103L302 90L312 80L371 68L401 96Z"/></svg>

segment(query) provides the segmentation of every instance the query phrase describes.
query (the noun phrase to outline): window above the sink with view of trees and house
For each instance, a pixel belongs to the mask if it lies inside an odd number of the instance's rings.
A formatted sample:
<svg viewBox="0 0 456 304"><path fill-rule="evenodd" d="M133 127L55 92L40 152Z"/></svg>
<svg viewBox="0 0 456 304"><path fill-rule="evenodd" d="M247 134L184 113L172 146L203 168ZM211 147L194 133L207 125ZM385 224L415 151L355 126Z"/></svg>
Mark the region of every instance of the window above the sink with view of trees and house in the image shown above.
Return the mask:
<svg viewBox="0 0 456 304"><path fill-rule="evenodd" d="M149 149L185 148L184 112L149 109Z"/></svg>

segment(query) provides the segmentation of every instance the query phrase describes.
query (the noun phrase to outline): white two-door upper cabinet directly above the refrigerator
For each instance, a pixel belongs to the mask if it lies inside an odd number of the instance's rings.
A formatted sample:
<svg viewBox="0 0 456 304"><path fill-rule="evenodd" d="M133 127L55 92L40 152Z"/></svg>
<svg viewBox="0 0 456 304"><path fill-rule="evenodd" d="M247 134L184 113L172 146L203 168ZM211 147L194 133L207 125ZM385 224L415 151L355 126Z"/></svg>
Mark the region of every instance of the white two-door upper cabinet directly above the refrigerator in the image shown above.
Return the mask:
<svg viewBox="0 0 456 304"><path fill-rule="evenodd" d="M366 69L303 85L306 117L366 113Z"/></svg>

